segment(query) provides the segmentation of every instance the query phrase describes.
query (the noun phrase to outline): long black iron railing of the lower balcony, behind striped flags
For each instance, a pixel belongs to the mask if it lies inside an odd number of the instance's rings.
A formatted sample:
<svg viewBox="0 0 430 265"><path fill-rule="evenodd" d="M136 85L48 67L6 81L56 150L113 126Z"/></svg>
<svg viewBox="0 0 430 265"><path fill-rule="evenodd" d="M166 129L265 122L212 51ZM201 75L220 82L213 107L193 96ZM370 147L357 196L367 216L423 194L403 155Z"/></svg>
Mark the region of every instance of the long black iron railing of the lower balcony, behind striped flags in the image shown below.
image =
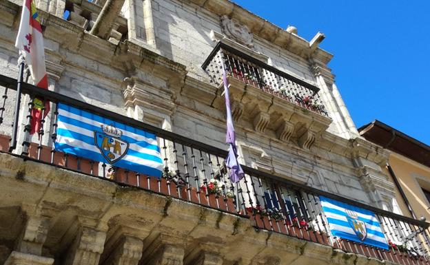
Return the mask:
<svg viewBox="0 0 430 265"><path fill-rule="evenodd" d="M13 116L17 80L0 75L0 86L2 89L0 91L3 92L3 100L0 102L0 150L8 152L12 121L10 116ZM27 83L23 83L22 90L22 100L28 103L29 108L21 109L21 112L27 114L20 114L24 121L24 125L19 126L23 133L18 138L22 149L19 153L15 150L12 153L14 156L251 218L258 229L284 233L347 252L400 264L427 264L430 246L427 222L384 211L246 166L243 166L245 178L233 184L228 178L229 169L225 167L224 158L227 151L223 149ZM35 97L50 100L51 121L48 123L49 119L43 120L43 130L31 137L28 134L31 115L28 114L33 105L31 99ZM65 103L156 134L163 158L163 177L142 175L103 162L61 153L52 148L57 138L58 103ZM376 213L386 240L391 242L390 249L359 244L331 235L320 196Z"/></svg>

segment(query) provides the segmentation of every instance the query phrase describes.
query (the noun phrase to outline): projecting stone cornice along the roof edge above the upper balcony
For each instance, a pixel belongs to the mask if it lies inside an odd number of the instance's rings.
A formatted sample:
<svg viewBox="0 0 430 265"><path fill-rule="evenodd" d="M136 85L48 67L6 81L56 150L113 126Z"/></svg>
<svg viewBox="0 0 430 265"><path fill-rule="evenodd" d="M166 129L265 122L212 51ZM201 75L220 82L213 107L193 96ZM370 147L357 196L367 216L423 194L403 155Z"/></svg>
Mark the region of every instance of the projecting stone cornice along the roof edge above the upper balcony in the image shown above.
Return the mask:
<svg viewBox="0 0 430 265"><path fill-rule="evenodd" d="M258 17L256 14L245 10L228 0L182 0L185 3L191 1L201 8L205 8L218 16L227 15L240 23L247 25L252 34L263 38L270 43L275 43L285 50L289 50L305 59L315 58L325 64L329 63L333 55L321 48L314 49L308 41L279 28L277 25Z"/></svg>

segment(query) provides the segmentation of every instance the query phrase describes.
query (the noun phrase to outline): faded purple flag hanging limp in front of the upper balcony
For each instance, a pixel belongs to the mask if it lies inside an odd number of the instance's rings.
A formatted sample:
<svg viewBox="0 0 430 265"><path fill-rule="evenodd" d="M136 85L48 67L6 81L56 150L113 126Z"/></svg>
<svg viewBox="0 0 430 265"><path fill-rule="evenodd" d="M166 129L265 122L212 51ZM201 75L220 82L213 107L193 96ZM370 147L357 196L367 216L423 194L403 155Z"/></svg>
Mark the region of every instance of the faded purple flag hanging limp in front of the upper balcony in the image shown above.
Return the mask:
<svg viewBox="0 0 430 265"><path fill-rule="evenodd" d="M232 107L230 106L230 96L228 91L227 74L225 74L224 64L223 65L223 83L224 83L224 96L225 96L225 108L227 109L227 134L225 136L225 142L230 145L229 154L226 162L227 167L230 169L230 180L233 183L241 180L245 173L243 173L242 167L237 160L237 148L236 148L236 136L234 135L234 125L232 119Z"/></svg>

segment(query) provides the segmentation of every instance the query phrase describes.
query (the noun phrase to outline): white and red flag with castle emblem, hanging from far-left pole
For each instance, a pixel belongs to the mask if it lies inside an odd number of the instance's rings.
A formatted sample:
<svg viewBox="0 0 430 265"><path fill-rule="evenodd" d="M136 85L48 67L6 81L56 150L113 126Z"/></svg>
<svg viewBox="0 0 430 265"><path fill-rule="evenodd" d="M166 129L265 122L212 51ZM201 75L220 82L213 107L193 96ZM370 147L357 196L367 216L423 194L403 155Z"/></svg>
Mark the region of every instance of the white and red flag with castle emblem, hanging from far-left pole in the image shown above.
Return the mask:
<svg viewBox="0 0 430 265"><path fill-rule="evenodd" d="M42 27L37 14L37 8L33 0L24 0L21 13L21 23L19 24L17 41L15 47L19 49L25 58L34 85L48 89L48 76L45 68L45 50L43 46ZM33 99L31 131L30 134L38 132L41 128L42 109L45 107L45 115L50 111L48 100L39 98ZM44 118L44 117L43 117Z"/></svg>

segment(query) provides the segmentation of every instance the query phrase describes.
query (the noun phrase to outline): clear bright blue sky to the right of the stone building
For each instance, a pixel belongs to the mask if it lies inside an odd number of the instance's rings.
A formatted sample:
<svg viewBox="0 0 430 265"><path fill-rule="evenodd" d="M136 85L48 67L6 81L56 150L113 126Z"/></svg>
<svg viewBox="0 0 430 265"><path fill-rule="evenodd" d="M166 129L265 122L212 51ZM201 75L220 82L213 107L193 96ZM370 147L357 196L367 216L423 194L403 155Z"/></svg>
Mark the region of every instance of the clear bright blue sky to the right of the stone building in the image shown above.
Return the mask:
<svg viewBox="0 0 430 265"><path fill-rule="evenodd" d="M320 47L357 127L378 119L430 145L430 1L234 0Z"/></svg>

